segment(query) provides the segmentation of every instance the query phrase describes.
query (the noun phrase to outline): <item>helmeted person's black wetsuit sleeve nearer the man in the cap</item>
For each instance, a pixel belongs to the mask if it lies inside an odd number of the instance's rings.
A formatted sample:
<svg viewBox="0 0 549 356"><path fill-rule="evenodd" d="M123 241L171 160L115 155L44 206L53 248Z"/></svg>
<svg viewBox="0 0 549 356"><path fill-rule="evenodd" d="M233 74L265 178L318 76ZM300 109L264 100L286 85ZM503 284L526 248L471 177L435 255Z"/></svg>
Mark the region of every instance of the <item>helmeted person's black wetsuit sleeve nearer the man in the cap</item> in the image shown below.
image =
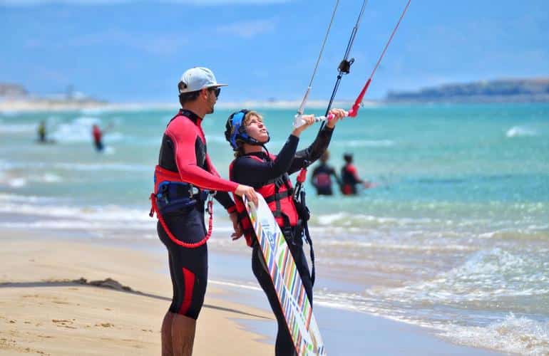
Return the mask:
<svg viewBox="0 0 549 356"><path fill-rule="evenodd" d="M270 179L275 179L287 172L297 150L299 137L289 135L282 150L273 161L260 162L252 157L240 157L235 161L233 182L259 187Z"/></svg>

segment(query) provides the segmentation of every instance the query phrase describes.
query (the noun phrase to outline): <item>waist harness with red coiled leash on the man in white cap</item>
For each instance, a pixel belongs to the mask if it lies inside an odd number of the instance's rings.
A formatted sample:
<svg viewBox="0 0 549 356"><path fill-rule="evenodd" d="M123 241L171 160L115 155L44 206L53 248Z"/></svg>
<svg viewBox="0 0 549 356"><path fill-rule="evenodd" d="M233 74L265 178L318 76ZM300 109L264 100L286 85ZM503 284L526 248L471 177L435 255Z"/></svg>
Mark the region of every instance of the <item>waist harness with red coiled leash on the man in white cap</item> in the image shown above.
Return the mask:
<svg viewBox="0 0 549 356"><path fill-rule="evenodd" d="M150 194L150 213L153 217L156 213L158 221L164 228L164 231L175 244L187 248L197 248L202 246L210 239L213 226L213 196L215 192L207 189L200 189L188 182L183 182L178 172L172 172L160 166L155 167L155 190ZM207 234L204 238L193 244L180 241L175 237L168 225L165 223L163 215L174 211L185 211L194 209L198 201L207 201L207 213L210 215L208 219Z"/></svg>

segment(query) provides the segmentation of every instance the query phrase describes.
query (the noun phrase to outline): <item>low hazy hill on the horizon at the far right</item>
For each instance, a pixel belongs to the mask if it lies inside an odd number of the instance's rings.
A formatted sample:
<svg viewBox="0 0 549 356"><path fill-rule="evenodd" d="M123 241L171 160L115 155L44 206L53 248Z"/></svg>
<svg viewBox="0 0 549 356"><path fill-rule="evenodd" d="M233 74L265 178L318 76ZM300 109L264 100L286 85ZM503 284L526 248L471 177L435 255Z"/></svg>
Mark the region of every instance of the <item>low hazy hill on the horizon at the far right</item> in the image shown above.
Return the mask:
<svg viewBox="0 0 549 356"><path fill-rule="evenodd" d="M390 103L540 103L549 102L549 78L482 80L417 91L391 91Z"/></svg>

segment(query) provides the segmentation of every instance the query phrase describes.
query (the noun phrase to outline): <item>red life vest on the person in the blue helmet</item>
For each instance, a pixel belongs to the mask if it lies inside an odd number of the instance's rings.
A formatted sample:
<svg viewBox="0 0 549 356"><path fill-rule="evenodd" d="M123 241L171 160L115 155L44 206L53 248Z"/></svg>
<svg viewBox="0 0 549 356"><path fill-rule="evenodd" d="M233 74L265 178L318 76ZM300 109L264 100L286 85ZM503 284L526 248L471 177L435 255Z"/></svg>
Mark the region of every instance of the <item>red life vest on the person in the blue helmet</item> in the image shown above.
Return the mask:
<svg viewBox="0 0 549 356"><path fill-rule="evenodd" d="M254 155L250 155L248 157L264 162L264 159ZM275 155L269 155L269 157L270 159L275 159ZM231 180L232 167L234 163L235 161L232 161L229 166L229 177ZM261 194L265 201L267 201L267 204L269 205L272 214L275 216L277 224L280 228L297 225L299 216L297 215L297 209L295 208L294 199L292 197L294 189L292 188L292 182L290 182L287 173L282 174L282 176L276 179L271 179L262 187L256 188L255 191ZM255 236L255 233L252 222L246 213L244 201L242 201L242 198L238 197L236 194L233 194L233 197L235 199L240 226L242 226L242 230L244 231L244 236L246 238L246 244L248 246L252 246L254 239L253 236Z"/></svg>

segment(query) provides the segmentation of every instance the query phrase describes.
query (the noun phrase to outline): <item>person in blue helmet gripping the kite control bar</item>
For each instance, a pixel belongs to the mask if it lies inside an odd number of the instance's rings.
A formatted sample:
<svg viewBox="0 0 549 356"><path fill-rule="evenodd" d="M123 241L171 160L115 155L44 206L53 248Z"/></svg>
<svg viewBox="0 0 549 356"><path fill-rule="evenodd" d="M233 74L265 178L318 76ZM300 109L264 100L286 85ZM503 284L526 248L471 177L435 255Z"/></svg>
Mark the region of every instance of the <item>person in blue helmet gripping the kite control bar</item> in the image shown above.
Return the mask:
<svg viewBox="0 0 549 356"><path fill-rule="evenodd" d="M233 182L254 187L267 201L284 234L289 251L294 257L297 271L301 276L311 305L314 277L309 273L307 259L303 252L302 238L303 226L306 224L308 216L304 216L304 209L299 209L298 213L296 202L292 196L292 183L289 180L289 174L312 164L328 147L334 125L345 115L344 110L341 109L334 109L330 112L335 115L335 118L327 122L312 145L305 150L296 152L299 135L314 122L313 115L303 115L305 124L292 131L282 150L276 156L270 155L265 147L265 144L270 140L269 132L263 123L262 116L255 111L234 112L227 120L227 130L225 131L225 138L230 142L236 157L230 164L230 179ZM275 354L294 355L294 343L284 321L284 314L277 299L275 286L273 286L265 265L265 259L262 256L250 219L247 217L244 203L240 197L235 197L235 203L240 216L242 233L245 235L247 245L252 247L252 271L265 291L277 318L278 333ZM303 221L304 219L305 221ZM238 239L240 236L242 235L233 234L233 239Z"/></svg>

